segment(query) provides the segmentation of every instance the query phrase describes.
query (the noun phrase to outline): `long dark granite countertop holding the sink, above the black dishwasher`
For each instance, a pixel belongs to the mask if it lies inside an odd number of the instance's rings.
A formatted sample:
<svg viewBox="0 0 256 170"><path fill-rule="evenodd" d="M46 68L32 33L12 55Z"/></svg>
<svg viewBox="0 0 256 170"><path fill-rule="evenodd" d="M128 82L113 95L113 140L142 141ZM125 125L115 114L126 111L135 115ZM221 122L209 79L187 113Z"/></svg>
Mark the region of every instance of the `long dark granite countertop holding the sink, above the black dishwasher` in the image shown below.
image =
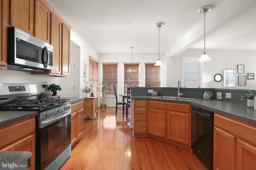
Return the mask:
<svg viewBox="0 0 256 170"><path fill-rule="evenodd" d="M191 101L177 101L177 100L165 100L165 99L156 99L156 96L132 96L132 99L135 100L157 100L164 102L178 102L178 103L189 103L194 104L205 109L209 109L214 112L233 117L238 120L242 120L253 125L256 125L256 110L249 108L245 105L234 104L231 102L223 102L221 100L204 100L204 99L195 99Z"/></svg>

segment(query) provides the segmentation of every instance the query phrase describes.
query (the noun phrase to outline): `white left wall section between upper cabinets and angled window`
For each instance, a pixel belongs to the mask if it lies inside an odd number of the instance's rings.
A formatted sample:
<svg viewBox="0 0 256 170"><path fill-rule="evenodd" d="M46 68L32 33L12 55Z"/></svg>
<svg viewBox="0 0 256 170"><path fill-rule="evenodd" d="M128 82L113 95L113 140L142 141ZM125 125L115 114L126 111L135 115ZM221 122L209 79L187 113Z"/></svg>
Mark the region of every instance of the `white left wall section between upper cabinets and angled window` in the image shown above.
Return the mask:
<svg viewBox="0 0 256 170"><path fill-rule="evenodd" d="M75 47L75 50L80 50L79 52L76 52L76 54L80 54L79 57L77 57L76 61L77 61L77 97L82 97L83 96L83 92L82 89L84 88L84 79L82 77L82 72L84 69L84 63L88 64L87 67L87 72L86 72L86 80L89 80L89 56L93 57L95 60L99 61L99 55L98 53L96 53L96 51L94 51L94 49L92 49L92 47L90 47L90 45L88 45L83 39L81 39L81 37L74 32L73 30L71 30L70 33L70 39L74 42L73 45L77 45L77 47ZM73 50L70 51L70 56L73 56L73 54L71 52L74 52Z"/></svg>

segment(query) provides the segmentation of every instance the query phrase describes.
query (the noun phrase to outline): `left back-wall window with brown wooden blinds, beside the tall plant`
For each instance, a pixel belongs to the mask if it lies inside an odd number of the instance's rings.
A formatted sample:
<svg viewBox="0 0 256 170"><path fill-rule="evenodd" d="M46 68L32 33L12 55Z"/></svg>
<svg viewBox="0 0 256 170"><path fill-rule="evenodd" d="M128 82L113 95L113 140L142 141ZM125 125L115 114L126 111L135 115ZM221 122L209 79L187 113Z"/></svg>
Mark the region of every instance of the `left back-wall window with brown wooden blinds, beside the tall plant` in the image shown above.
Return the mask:
<svg viewBox="0 0 256 170"><path fill-rule="evenodd" d="M118 92L118 63L102 63L102 80L106 82L104 97L115 98L113 85Z"/></svg>

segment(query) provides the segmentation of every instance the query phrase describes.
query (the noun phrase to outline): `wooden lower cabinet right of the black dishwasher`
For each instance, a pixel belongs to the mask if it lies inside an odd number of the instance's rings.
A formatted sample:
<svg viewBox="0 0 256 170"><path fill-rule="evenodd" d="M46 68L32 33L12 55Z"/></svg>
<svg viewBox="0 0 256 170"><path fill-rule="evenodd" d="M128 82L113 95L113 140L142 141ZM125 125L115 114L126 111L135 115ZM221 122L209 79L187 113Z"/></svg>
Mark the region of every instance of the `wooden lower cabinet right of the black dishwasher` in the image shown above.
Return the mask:
<svg viewBox="0 0 256 170"><path fill-rule="evenodd" d="M255 134L255 125L214 113L213 169L255 169Z"/></svg>

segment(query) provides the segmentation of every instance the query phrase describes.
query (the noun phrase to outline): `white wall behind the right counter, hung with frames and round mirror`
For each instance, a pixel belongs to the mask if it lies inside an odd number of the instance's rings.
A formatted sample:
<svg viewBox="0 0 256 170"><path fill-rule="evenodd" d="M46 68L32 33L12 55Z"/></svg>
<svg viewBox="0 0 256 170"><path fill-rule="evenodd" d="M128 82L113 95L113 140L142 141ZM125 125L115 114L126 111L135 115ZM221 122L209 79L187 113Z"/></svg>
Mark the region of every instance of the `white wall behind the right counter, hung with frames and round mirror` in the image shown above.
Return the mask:
<svg viewBox="0 0 256 170"><path fill-rule="evenodd" d="M182 80L182 57L200 57L203 51L186 50L173 58L166 59L166 86L176 87L177 81ZM214 81L214 75L220 73L223 76L223 69L237 69L238 64L244 64L246 86L237 86L236 89L256 89L256 79L247 80L247 73L256 73L256 51L210 51L206 53L212 61L204 62L203 82L211 82L213 88L223 88L221 82Z"/></svg>

